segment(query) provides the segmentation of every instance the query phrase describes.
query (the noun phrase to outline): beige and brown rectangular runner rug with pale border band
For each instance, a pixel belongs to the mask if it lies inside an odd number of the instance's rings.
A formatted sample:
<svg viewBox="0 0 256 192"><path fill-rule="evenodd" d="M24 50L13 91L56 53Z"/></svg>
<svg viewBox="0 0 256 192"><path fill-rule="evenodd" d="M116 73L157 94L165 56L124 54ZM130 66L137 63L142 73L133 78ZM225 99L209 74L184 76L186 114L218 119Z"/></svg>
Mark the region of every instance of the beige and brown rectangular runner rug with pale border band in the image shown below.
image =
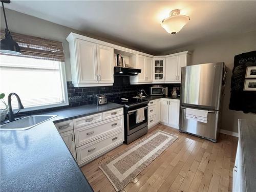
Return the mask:
<svg viewBox="0 0 256 192"><path fill-rule="evenodd" d="M178 136L157 130L99 166L116 191L122 190Z"/></svg>

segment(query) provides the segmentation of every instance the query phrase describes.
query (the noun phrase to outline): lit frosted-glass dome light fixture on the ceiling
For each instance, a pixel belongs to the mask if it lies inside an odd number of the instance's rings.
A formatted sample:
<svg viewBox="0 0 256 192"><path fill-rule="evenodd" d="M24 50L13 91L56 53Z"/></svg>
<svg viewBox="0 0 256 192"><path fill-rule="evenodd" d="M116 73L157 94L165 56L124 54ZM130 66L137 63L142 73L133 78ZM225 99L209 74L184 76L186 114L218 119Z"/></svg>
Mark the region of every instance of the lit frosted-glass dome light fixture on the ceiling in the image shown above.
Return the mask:
<svg viewBox="0 0 256 192"><path fill-rule="evenodd" d="M190 20L186 15L180 15L180 10L170 12L170 16L162 20L161 26L170 34L178 33Z"/></svg>

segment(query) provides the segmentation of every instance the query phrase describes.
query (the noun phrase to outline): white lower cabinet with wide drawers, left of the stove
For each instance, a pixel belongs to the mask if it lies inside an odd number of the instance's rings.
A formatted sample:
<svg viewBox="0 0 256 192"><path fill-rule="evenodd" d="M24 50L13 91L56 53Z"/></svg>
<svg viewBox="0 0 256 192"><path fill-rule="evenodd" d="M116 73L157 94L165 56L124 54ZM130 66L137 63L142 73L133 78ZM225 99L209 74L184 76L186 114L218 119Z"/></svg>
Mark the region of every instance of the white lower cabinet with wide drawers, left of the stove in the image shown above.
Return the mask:
<svg viewBox="0 0 256 192"><path fill-rule="evenodd" d="M58 122L55 126L79 166L124 141L123 108Z"/></svg>

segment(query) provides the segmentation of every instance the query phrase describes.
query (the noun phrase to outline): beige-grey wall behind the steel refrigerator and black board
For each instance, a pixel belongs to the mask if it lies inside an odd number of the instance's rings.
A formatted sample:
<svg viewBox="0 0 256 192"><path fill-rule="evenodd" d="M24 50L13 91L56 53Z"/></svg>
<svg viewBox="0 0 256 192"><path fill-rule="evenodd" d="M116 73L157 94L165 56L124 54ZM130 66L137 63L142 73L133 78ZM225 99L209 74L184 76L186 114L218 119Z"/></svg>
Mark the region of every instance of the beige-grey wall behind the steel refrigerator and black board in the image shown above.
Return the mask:
<svg viewBox="0 0 256 192"><path fill-rule="evenodd" d="M256 120L256 114L245 114L241 111L232 111L228 109L234 56L256 50L256 31L225 39L214 39L203 43L198 42L196 45L186 46L163 54L177 53L185 50L193 52L191 65L208 62L225 62L228 73L224 91L225 95L222 99L221 129L238 132L239 118Z"/></svg>

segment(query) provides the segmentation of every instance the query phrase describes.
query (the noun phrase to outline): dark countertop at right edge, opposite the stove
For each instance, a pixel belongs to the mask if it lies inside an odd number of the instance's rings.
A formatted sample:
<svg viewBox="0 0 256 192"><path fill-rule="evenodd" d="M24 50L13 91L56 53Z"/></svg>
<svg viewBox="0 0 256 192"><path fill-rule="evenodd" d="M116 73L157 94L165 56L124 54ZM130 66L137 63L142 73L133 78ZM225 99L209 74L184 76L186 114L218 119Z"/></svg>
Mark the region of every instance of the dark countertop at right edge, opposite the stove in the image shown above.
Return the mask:
<svg viewBox="0 0 256 192"><path fill-rule="evenodd" d="M245 119L238 120L239 144L241 168L241 191L256 191L256 121Z"/></svg>

